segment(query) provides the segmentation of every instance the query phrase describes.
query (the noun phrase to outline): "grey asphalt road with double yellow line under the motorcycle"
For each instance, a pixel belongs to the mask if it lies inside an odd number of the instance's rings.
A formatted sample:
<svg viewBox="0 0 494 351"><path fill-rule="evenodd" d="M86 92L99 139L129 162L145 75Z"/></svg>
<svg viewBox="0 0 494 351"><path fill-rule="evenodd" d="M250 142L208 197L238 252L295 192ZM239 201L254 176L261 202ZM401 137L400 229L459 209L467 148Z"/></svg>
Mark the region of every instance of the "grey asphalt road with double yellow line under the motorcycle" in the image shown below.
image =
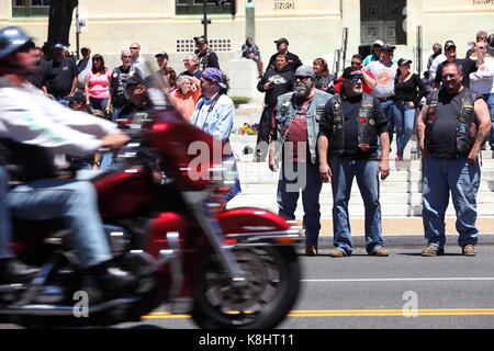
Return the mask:
<svg viewBox="0 0 494 351"><path fill-rule="evenodd" d="M388 258L361 249L340 259L301 256L300 298L279 329L494 328L494 246L479 246L476 257L460 251L447 247L436 258L409 247L392 248ZM170 315L166 307L113 328L197 328L189 316Z"/></svg>

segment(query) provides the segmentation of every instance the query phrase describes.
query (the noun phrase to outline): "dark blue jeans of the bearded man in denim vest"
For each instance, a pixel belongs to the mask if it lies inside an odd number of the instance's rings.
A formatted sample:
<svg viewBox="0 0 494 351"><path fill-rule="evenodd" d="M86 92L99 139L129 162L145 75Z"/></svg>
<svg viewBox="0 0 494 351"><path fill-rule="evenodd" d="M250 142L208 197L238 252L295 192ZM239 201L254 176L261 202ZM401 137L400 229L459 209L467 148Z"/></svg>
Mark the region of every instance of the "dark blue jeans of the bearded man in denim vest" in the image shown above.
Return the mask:
<svg viewBox="0 0 494 351"><path fill-rule="evenodd" d="M302 190L305 246L317 246L321 230L319 193L323 180L318 167L312 162L283 162L278 180L279 215L295 219L296 202Z"/></svg>

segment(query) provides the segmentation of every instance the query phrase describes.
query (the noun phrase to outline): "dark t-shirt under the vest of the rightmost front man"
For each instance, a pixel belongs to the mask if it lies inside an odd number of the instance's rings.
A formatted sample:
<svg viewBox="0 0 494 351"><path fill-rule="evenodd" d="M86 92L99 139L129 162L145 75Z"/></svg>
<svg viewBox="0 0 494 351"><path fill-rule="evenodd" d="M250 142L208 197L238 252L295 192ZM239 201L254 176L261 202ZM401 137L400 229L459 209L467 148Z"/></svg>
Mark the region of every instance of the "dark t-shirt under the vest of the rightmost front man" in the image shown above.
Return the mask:
<svg viewBox="0 0 494 351"><path fill-rule="evenodd" d="M437 120L433 131L427 132L426 137L429 138L427 150L435 157L451 158L457 149L457 127L458 117L461 113L463 103L461 102L468 89L463 89L456 95L449 94L446 89L439 90ZM480 99L481 95L478 97ZM427 105L430 106L433 93L427 97Z"/></svg>

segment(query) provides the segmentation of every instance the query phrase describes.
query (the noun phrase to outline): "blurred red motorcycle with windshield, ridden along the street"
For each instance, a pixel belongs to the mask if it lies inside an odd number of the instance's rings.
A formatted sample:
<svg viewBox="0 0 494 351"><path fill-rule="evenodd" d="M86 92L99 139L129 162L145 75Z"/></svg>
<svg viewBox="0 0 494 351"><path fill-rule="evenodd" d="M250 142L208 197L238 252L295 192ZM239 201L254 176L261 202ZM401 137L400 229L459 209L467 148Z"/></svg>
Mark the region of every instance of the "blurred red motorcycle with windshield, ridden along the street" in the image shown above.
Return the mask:
<svg viewBox="0 0 494 351"><path fill-rule="evenodd" d="M137 128L117 167L90 179L113 264L137 276L138 287L105 299L78 268L60 219L14 220L15 252L40 272L0 286L0 321L112 325L169 303L202 328L273 328L292 308L300 228L265 210L225 210L232 182L217 157L224 145L184 122L161 92L150 88L154 110L128 121Z"/></svg>

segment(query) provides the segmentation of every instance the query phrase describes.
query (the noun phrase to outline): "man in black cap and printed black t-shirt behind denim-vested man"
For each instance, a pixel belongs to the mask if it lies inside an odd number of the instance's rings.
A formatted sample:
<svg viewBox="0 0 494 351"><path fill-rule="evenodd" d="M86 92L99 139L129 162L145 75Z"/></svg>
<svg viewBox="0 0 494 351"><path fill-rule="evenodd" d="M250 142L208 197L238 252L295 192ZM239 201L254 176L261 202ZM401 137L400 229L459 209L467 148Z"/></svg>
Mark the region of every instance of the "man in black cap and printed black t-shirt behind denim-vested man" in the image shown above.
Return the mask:
<svg viewBox="0 0 494 351"><path fill-rule="evenodd" d="M265 109L262 110L257 133L256 161L258 162L265 161L268 154L272 111L277 105L278 97L292 91L293 83L293 71L289 69L287 56L282 54L277 57L277 67L268 70L257 83L257 90L266 92Z"/></svg>

